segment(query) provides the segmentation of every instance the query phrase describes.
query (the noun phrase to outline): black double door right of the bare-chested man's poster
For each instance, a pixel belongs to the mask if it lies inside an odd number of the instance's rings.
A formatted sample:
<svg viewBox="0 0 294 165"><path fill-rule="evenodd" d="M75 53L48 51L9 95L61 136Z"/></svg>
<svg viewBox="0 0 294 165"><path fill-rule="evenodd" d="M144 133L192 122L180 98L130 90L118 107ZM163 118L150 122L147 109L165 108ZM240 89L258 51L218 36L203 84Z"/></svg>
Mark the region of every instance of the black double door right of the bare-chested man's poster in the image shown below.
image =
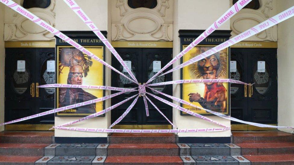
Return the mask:
<svg viewBox="0 0 294 165"><path fill-rule="evenodd" d="M277 124L277 49L231 48L230 63L232 79L254 83L231 84L231 116Z"/></svg>

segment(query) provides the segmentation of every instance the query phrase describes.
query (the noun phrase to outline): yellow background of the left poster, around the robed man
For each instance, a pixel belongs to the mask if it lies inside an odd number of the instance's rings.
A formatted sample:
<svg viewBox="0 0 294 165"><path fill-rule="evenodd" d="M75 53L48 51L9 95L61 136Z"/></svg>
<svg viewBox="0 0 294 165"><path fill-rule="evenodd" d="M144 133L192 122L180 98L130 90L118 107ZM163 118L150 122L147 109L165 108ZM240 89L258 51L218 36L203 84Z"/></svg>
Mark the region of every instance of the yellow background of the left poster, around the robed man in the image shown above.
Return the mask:
<svg viewBox="0 0 294 165"><path fill-rule="evenodd" d="M72 46L58 46L57 47L57 64L59 64L59 49L72 47ZM103 59L103 47L102 46L84 46L87 50L95 54L100 59ZM98 61L91 59L92 66L89 67L88 75L83 77L83 85L103 85L104 74L103 74L103 65ZM59 84L67 84L67 76L69 73L69 67L64 67L62 69L62 73L58 72L57 83ZM97 98L103 97L103 90L97 89L83 89L86 92L96 96ZM57 108L58 108L58 100L59 94L57 90ZM103 110L103 102L96 102L96 112ZM85 116L90 114L78 114L78 113L58 113L58 116Z"/></svg>

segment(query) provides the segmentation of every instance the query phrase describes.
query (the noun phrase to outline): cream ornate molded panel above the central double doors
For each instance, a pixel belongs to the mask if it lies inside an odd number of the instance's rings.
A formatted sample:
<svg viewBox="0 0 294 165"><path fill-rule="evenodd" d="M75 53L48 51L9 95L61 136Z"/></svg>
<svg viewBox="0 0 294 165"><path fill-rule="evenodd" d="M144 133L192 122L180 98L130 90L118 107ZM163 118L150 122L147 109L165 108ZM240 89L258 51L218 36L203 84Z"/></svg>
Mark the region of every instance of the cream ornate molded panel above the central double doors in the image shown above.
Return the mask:
<svg viewBox="0 0 294 165"><path fill-rule="evenodd" d="M127 0L111 1L112 41L173 41L173 4L157 3L153 9L133 9Z"/></svg>

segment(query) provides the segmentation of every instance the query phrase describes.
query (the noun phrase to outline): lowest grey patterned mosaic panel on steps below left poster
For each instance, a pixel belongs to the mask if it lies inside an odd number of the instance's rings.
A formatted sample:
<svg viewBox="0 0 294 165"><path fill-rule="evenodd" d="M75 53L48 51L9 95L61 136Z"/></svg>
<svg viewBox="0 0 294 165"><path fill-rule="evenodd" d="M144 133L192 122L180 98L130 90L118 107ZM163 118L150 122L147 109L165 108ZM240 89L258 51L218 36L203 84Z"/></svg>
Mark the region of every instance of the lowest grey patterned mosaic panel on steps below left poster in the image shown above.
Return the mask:
<svg viewBox="0 0 294 165"><path fill-rule="evenodd" d="M48 163L91 163L95 156L55 156Z"/></svg>

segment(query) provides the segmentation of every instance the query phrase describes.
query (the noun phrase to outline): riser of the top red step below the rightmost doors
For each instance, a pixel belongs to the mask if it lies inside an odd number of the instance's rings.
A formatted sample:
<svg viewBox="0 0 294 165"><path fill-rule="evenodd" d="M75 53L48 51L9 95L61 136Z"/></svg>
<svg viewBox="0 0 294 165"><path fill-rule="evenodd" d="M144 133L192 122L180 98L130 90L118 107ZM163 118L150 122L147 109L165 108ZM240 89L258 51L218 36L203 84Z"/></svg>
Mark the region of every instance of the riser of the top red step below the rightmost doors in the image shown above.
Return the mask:
<svg viewBox="0 0 294 165"><path fill-rule="evenodd" d="M273 143L294 142L294 136L255 136L255 137L233 137L233 143Z"/></svg>

